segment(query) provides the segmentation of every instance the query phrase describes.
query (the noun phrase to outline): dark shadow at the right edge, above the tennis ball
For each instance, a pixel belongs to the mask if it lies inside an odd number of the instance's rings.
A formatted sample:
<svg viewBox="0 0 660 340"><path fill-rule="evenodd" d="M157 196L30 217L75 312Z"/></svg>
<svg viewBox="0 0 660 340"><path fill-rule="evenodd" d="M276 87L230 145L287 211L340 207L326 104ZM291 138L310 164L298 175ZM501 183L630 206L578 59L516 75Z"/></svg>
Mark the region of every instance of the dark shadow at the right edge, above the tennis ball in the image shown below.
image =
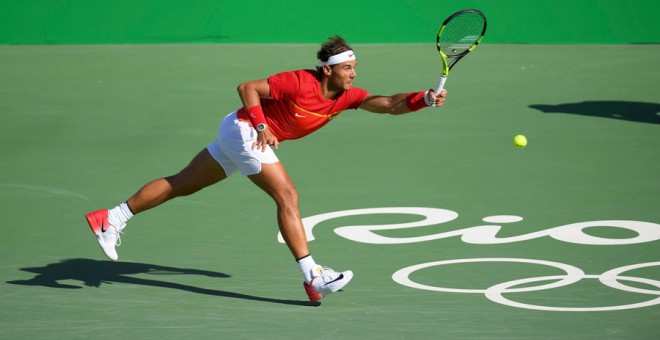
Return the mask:
<svg viewBox="0 0 660 340"><path fill-rule="evenodd" d="M584 101L557 105L530 105L545 113L570 113L583 116L660 124L660 104L616 100Z"/></svg>

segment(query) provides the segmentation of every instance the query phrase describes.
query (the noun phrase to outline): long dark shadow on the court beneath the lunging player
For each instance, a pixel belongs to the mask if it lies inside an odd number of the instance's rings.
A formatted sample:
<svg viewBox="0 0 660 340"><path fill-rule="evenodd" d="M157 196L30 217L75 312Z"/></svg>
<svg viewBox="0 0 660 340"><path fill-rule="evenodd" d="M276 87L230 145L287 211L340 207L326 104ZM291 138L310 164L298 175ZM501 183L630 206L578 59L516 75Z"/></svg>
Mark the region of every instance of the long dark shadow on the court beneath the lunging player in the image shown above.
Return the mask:
<svg viewBox="0 0 660 340"><path fill-rule="evenodd" d="M299 306L320 305L320 303L314 303L309 301L273 299L273 298L228 292L223 290L194 287L194 286L184 285L175 282L161 281L156 279L137 278L131 276L135 274L151 274L154 276L203 275L203 276L218 277L218 278L231 277L230 275L223 273L198 270L198 269L166 267L166 266L159 266L159 265L145 264L145 263L96 261L90 259L68 259L68 260L62 260L59 263L51 263L44 267L21 268L21 270L29 273L34 273L37 275L29 280L14 280L14 281L7 281L7 283L14 285L42 286L42 287L63 288L63 289L81 289L83 287L72 284L60 283L59 281L62 280L80 281L82 282L83 285L88 287L100 287L102 284L126 283L126 284L142 285L142 286L178 289L196 294L206 294L206 295L221 296L221 297L228 297L235 299L281 303L287 305L299 305Z"/></svg>

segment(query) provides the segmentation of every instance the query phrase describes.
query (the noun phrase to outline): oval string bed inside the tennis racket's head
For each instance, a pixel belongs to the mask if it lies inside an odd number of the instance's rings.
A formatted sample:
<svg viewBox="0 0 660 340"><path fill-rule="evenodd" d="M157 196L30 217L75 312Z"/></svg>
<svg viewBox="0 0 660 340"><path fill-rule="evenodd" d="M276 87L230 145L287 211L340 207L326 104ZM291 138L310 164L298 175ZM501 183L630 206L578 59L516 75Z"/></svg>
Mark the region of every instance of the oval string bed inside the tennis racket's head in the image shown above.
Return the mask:
<svg viewBox="0 0 660 340"><path fill-rule="evenodd" d="M449 57L466 53L479 41L484 25L485 21L479 14L458 15L443 28L438 37L438 48Z"/></svg>

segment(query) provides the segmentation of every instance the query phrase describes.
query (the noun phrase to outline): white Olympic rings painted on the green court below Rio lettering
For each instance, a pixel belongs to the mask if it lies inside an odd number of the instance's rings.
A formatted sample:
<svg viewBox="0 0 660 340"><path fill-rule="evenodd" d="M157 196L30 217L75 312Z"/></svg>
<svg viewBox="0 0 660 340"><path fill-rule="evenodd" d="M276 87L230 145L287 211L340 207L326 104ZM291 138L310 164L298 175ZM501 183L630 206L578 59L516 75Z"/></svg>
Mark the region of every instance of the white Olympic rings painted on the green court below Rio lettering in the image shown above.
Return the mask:
<svg viewBox="0 0 660 340"><path fill-rule="evenodd" d="M448 264L460 264L460 263L474 263L474 262L514 262L514 263L530 263L530 264L539 264L549 267L554 267L561 269L565 272L564 275L551 275L551 276L538 276L538 277L529 277L518 280L511 280L507 282L502 282L486 289L462 289L462 288L447 288L447 287L438 287L423 285L417 282L414 282L410 279L410 275L418 270L443 266ZM601 312L601 311L614 311L614 310L624 310L624 309L634 309L649 307L660 304L660 281L632 277L632 276L622 276L622 273L633 269L646 268L646 267L656 267L660 266L660 262L647 262L647 263L638 263L628 266L623 266L619 268L614 268L608 270L600 275L591 275L585 274L582 269L577 268L572 265L568 265L560 262L553 261L544 261L544 260L534 260L534 259L523 259L523 258L471 258L471 259L453 259L445 261L436 261L428 262L413 265L398 270L392 275L392 279L403 286L407 286L415 289L429 290L435 292L446 292L446 293L463 293L463 294L484 294L489 300L511 307L524 308L524 309L533 309L533 310L542 310L542 311L560 311L560 312ZM626 305L615 305L615 306L602 306L602 307L556 307L556 306L542 306L542 305L532 305L517 302L508 298L505 298L503 294L510 293L524 293L540 290L548 290L554 288L565 287L576 282L581 281L582 279L598 279L603 285L608 286L613 289L626 291L630 293L638 293L645 295L654 295L657 296L653 299L632 303ZM523 288L515 288L521 285L527 285L535 282L545 282L545 281L555 281L549 284L542 284L538 286L525 286ZM637 282L646 284L649 286L654 286L658 290L649 290L642 289L637 287L632 287L621 283L621 281L627 282Z"/></svg>

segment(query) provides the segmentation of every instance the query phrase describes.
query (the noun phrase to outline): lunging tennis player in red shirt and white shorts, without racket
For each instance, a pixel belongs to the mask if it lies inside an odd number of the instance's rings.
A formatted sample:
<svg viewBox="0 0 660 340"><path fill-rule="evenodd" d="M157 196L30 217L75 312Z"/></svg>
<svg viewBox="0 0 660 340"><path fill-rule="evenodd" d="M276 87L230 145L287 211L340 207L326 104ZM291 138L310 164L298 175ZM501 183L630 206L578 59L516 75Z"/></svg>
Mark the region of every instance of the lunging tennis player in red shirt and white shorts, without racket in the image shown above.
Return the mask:
<svg viewBox="0 0 660 340"><path fill-rule="evenodd" d="M190 195L236 172L247 176L277 204L280 232L302 272L310 301L343 288L353 277L318 265L310 255L298 211L298 193L273 148L302 138L326 125L347 109L404 114L430 105L441 106L446 91L433 90L373 95L354 87L355 52L339 36L331 37L317 53L316 70L282 72L238 86L243 107L227 115L218 135L184 169L145 184L117 207L86 215L89 226L108 258L118 259L120 233L135 214L172 198Z"/></svg>

